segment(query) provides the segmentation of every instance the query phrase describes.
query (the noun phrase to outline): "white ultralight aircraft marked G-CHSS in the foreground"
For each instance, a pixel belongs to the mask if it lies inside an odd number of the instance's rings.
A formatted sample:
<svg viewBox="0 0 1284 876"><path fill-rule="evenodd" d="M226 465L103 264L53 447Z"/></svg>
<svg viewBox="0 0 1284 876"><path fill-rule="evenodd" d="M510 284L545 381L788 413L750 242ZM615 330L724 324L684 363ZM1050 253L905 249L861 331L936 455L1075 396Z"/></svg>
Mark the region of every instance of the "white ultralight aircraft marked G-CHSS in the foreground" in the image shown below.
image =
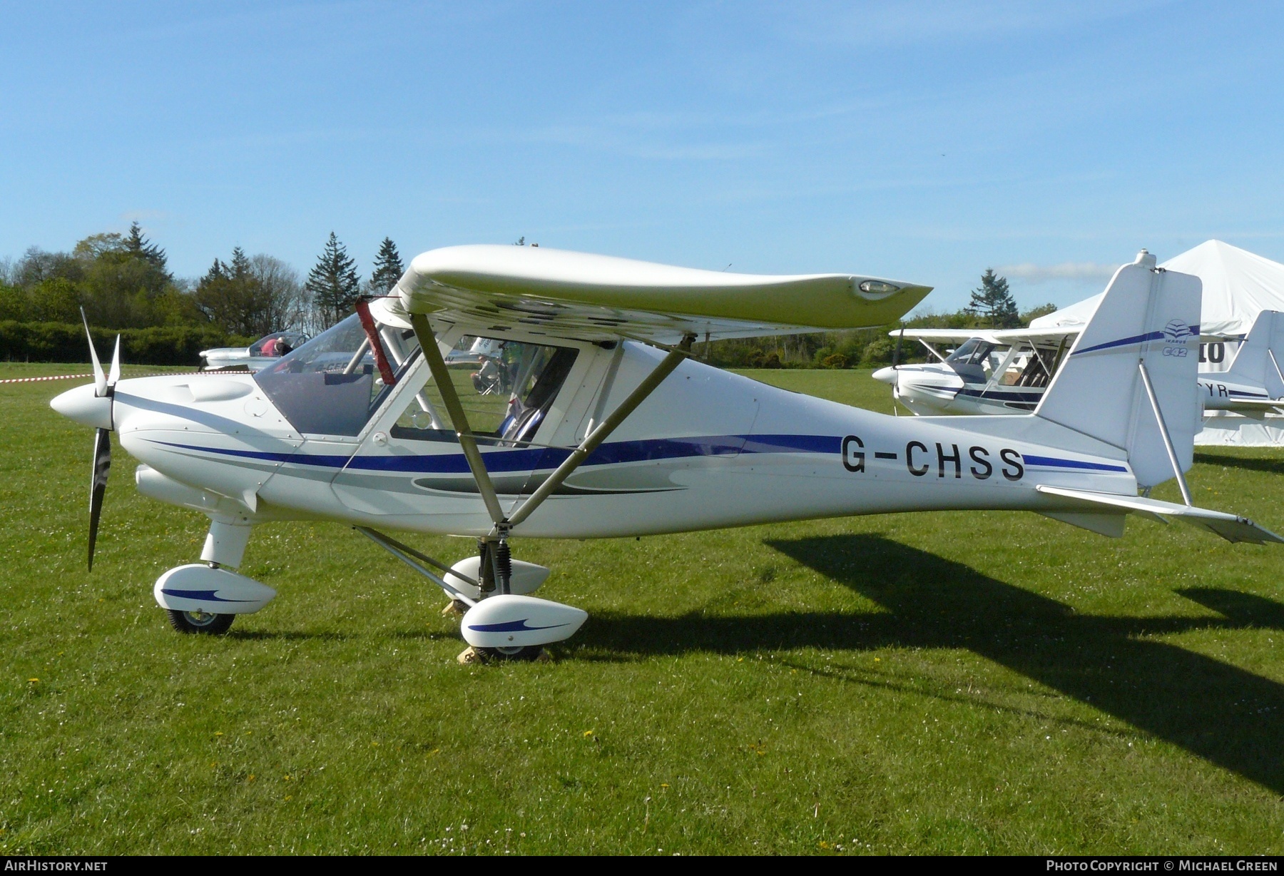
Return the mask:
<svg viewBox="0 0 1284 876"><path fill-rule="evenodd" d="M514 537L1007 509L1116 537L1125 515L1140 514L1230 541L1281 541L1189 501L1197 277L1120 268L1026 416L898 419L690 356L700 334L886 325L927 292L851 275L452 247L419 256L393 294L254 375L119 380L117 343L109 376L95 356L95 383L51 403L98 429L91 564L109 430L143 462L140 492L211 518L202 563L154 586L185 632L225 631L276 595L231 570L268 520L351 524L430 579L466 609L461 659L530 656L587 618L529 595L548 570L512 559ZM478 338L494 342L487 358L501 392L490 380L478 389L475 362L446 362ZM1184 505L1147 497L1172 477ZM479 550L447 566L379 529L471 536Z"/></svg>

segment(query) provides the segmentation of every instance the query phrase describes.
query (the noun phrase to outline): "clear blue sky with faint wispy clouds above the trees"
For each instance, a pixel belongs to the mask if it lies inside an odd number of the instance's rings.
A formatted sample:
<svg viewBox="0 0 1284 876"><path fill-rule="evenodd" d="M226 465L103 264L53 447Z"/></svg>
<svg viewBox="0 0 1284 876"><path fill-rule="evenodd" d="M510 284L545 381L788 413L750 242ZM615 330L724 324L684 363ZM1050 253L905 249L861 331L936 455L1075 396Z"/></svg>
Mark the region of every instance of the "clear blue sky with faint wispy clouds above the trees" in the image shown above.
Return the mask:
<svg viewBox="0 0 1284 876"><path fill-rule="evenodd" d="M5 4L0 257L139 220L369 274L458 243L1026 307L1148 247L1284 261L1284 6Z"/></svg>

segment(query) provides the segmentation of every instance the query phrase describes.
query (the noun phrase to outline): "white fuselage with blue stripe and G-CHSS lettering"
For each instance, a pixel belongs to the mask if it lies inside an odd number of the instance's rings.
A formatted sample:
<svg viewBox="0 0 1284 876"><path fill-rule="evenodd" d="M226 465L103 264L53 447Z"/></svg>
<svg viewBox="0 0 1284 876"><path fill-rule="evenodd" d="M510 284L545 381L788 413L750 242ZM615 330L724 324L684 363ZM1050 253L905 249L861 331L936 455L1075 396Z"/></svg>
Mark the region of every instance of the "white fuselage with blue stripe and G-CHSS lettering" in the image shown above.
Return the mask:
<svg viewBox="0 0 1284 876"><path fill-rule="evenodd" d="M460 334L447 333L444 344ZM534 433L482 446L510 512L663 356L632 342L530 340L574 356ZM144 464L140 489L164 501L250 520L485 534L492 520L453 433L406 425L428 380L422 358L408 360L365 423L348 417L333 433L324 430L324 396L308 426L322 430L304 432L252 375L121 380L112 416L125 450ZM1034 416L892 417L688 360L514 534L1062 507L1035 484L1136 493L1124 451Z"/></svg>

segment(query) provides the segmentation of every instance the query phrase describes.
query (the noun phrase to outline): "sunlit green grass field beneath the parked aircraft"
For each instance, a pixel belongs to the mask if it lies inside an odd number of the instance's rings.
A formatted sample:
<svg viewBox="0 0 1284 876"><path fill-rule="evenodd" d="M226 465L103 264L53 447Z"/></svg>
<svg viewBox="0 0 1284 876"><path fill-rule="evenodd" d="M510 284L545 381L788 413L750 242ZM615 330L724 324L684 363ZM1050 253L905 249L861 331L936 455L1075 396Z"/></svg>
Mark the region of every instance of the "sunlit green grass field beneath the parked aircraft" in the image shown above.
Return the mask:
<svg viewBox="0 0 1284 876"><path fill-rule="evenodd" d="M868 371L752 376L890 411ZM117 451L85 572L74 383L0 385L3 853L1284 853L1279 546L962 512L517 541L589 622L461 667L395 560L272 524L243 572L277 600L180 636L152 584L204 518ZM1197 461L1198 504L1284 529L1284 453Z"/></svg>

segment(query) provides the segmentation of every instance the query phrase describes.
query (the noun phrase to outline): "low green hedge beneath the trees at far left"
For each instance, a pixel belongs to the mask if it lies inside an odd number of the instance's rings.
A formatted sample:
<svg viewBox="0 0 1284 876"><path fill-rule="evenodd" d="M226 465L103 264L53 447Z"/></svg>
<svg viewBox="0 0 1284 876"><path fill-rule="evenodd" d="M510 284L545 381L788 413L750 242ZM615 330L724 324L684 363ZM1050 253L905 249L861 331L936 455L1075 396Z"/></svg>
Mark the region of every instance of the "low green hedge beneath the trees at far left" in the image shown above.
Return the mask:
<svg viewBox="0 0 1284 876"><path fill-rule="evenodd" d="M107 365L121 335L127 365L199 365L200 351L247 347L254 338L230 335L214 326L162 325L149 329L91 329L98 356ZM0 360L9 362L89 362L85 328L73 322L0 321Z"/></svg>

